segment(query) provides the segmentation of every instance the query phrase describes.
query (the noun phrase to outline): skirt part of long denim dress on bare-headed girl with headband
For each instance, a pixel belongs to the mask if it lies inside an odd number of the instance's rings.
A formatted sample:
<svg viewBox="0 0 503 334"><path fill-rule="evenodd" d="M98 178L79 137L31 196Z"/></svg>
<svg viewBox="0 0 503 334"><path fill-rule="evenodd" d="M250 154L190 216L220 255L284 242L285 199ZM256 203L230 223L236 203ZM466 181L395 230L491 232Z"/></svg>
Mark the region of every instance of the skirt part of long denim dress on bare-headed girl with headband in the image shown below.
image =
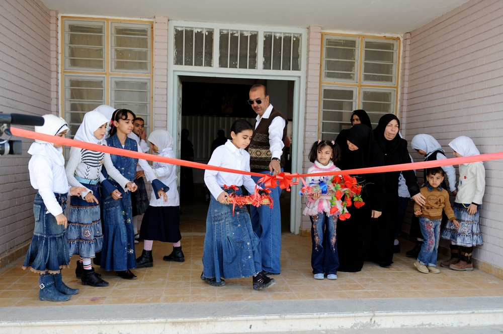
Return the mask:
<svg viewBox="0 0 503 334"><path fill-rule="evenodd" d="M116 187L118 185L116 184ZM136 268L131 192L121 191L122 198L111 196L102 201L103 247L101 268L124 271Z"/></svg>

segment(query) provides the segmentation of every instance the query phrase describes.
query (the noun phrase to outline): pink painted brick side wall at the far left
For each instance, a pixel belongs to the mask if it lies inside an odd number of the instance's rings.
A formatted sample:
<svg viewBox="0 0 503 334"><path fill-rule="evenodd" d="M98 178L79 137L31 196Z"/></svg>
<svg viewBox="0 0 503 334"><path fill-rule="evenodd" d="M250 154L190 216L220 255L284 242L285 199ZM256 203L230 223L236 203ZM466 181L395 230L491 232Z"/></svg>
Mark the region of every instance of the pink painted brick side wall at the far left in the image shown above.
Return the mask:
<svg viewBox="0 0 503 334"><path fill-rule="evenodd" d="M51 76L51 70L57 68L55 13L38 0L4 1L0 12L0 112L55 112L57 80ZM55 35L51 32L53 26ZM33 235L35 190L29 181L30 156L26 153L31 143L23 139L23 155L0 157L0 255L31 240Z"/></svg>

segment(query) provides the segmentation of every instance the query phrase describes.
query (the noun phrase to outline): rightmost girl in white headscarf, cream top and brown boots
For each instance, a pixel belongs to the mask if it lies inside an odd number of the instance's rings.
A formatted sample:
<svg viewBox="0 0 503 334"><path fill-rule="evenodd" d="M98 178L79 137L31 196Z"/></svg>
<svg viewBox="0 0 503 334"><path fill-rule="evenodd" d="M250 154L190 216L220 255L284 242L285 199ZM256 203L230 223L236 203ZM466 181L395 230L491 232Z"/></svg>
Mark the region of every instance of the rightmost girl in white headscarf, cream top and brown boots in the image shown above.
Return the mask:
<svg viewBox="0 0 503 334"><path fill-rule="evenodd" d="M480 152L473 141L460 136L449 143L455 157L471 157ZM459 165L458 193L454 200L454 214L459 221L459 228L446 226L442 238L451 241L459 247L459 262L449 265L457 271L472 271L473 247L482 245L482 235L479 225L479 208L485 190L485 169L483 162L472 162Z"/></svg>

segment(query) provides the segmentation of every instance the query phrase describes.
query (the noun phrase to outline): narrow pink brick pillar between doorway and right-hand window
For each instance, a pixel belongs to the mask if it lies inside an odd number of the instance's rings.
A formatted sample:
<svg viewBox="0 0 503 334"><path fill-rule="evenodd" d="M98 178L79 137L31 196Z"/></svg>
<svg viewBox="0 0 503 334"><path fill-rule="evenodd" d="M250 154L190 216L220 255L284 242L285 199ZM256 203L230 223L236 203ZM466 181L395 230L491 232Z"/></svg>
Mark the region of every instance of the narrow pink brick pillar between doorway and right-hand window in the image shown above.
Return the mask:
<svg viewBox="0 0 503 334"><path fill-rule="evenodd" d="M319 114L319 71L321 59L321 27L310 26L307 31L307 71L306 71L306 108L304 114L304 162L303 172L312 166L307 159L311 145L318 140L318 114ZM302 199L302 203L304 199ZM304 205L302 204L302 210ZM311 233L309 216L302 216L300 235Z"/></svg>

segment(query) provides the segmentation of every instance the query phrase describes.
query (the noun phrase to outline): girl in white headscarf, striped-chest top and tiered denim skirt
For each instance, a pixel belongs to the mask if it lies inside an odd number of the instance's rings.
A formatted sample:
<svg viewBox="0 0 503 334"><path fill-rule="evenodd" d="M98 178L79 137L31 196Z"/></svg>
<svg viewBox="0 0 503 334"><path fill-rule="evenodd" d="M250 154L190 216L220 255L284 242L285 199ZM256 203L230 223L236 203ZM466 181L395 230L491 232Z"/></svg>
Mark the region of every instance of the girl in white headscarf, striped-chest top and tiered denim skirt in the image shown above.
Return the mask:
<svg viewBox="0 0 503 334"><path fill-rule="evenodd" d="M101 144L108 119L98 111L84 115L73 139ZM108 286L91 266L91 259L101 252L103 229L100 213L100 176L102 166L123 189L132 190L131 182L114 167L110 154L72 147L66 164L66 177L72 186L85 187L80 196L71 196L68 212L68 248L70 257L79 254L75 275L82 285Z"/></svg>

